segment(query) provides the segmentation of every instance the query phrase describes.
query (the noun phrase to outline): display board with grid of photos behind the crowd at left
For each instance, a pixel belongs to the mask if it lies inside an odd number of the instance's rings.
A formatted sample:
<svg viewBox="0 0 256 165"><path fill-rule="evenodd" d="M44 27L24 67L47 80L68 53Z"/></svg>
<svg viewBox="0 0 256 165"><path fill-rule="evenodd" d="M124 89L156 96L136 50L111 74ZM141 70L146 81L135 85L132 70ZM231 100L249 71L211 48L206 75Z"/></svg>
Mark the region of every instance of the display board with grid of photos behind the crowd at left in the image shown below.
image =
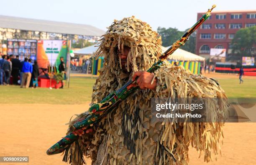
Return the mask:
<svg viewBox="0 0 256 165"><path fill-rule="evenodd" d="M36 60L36 40L7 39L7 55L19 55L21 61L25 57Z"/></svg>

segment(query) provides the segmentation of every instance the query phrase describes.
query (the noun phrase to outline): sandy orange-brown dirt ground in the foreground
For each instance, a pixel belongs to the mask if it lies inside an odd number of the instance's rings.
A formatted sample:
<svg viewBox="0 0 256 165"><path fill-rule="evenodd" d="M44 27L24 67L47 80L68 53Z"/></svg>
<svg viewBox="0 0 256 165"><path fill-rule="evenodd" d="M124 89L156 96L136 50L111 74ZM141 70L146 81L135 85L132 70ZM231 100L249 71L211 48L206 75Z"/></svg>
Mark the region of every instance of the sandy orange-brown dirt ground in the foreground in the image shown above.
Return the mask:
<svg viewBox="0 0 256 165"><path fill-rule="evenodd" d="M62 156L46 155L46 150L65 135L67 123L87 105L0 105L0 156L29 156L31 165L65 165ZM255 165L256 123L226 123L222 157L207 165ZM190 165L206 165L203 155L189 150ZM90 160L87 159L87 164ZM8 163L0 163L8 165ZM15 163L9 163L13 165Z"/></svg>

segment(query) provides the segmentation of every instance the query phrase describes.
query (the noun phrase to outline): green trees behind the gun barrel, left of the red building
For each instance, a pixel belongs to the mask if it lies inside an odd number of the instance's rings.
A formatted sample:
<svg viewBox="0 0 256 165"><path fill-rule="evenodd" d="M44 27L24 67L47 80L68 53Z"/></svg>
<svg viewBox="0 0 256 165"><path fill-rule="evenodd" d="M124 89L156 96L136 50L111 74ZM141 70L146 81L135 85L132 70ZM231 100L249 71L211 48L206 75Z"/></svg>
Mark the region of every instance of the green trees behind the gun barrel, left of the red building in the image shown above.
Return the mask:
<svg viewBox="0 0 256 165"><path fill-rule="evenodd" d="M188 29L187 29L188 30ZM179 31L177 28L157 28L157 32L161 35L162 45L164 47L172 45L173 42L179 39L187 30ZM193 32L189 36L189 40L182 46L183 50L187 50L188 52L195 53L195 43L196 43L196 32Z"/></svg>

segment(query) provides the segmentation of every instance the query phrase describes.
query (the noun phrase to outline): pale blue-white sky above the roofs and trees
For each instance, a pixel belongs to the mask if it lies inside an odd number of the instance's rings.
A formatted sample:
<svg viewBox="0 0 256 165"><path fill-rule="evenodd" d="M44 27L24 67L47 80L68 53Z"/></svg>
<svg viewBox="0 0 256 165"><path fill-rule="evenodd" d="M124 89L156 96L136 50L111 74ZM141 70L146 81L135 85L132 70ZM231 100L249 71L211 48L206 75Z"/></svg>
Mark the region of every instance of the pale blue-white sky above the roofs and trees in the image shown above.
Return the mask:
<svg viewBox="0 0 256 165"><path fill-rule="evenodd" d="M0 15L93 25L106 30L114 19L131 15L157 27L191 27L197 13L256 10L256 0L1 0Z"/></svg>

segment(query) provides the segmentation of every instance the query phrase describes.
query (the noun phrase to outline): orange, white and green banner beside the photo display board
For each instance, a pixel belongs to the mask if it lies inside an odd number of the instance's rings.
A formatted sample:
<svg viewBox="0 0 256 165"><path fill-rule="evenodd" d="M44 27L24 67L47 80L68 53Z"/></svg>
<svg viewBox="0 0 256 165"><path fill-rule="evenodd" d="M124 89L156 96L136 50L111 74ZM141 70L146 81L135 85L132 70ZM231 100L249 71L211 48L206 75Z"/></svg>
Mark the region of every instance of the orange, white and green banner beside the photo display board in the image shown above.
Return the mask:
<svg viewBox="0 0 256 165"><path fill-rule="evenodd" d="M67 41L66 40L38 40L37 62L39 68L54 66L58 70L60 57L67 63Z"/></svg>

